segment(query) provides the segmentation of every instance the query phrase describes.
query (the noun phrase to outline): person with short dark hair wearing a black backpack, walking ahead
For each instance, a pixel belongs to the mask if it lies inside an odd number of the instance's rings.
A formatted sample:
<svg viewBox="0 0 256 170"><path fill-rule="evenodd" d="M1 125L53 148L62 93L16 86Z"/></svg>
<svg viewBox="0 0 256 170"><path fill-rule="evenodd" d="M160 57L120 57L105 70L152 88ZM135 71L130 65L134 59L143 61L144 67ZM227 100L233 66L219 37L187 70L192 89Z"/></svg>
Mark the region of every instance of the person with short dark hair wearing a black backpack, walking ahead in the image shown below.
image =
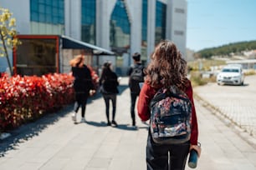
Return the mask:
<svg viewBox="0 0 256 170"><path fill-rule="evenodd" d="M136 52L132 55L134 65L127 72L129 76L129 87L131 92L131 120L132 126L136 126L135 106L136 99L141 92L140 82L144 82L144 66L141 64L141 54Z"/></svg>

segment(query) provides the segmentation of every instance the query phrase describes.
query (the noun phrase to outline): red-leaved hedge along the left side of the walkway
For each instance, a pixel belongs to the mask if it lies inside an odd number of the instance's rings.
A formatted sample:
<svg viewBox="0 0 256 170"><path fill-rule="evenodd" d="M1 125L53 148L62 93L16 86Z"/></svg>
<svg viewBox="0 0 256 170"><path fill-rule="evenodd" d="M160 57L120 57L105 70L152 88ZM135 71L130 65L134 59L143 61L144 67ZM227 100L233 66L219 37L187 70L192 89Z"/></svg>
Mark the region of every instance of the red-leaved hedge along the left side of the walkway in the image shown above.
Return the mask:
<svg viewBox="0 0 256 170"><path fill-rule="evenodd" d="M42 77L3 74L0 78L0 132L74 102L73 81L70 74Z"/></svg>

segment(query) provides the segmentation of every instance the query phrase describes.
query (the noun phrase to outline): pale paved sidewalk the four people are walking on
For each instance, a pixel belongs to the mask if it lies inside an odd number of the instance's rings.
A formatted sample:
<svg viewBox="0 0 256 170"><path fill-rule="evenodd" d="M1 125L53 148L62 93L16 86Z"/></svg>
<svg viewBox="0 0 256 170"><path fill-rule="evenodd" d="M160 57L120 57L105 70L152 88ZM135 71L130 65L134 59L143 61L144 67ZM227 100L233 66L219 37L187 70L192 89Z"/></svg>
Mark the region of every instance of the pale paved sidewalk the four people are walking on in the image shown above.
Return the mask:
<svg viewBox="0 0 256 170"><path fill-rule="evenodd" d="M117 97L118 128L106 126L103 98L94 97L86 108L86 123L74 124L69 106L13 132L0 142L0 169L146 169L147 126L136 117L137 128L131 127L127 82L126 77L121 80ZM195 104L202 143L197 169L256 170L254 138L227 126L201 102Z"/></svg>

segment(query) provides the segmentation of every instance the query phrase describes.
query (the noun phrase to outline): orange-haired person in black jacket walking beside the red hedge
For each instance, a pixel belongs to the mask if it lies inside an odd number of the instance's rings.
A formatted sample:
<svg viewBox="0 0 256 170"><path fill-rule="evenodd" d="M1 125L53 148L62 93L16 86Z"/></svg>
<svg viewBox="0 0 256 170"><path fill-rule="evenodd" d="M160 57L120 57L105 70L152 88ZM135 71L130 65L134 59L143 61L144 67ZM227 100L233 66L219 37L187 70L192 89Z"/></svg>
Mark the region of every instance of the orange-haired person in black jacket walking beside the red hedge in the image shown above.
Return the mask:
<svg viewBox="0 0 256 170"><path fill-rule="evenodd" d="M71 66L72 75L74 77L74 93L75 93L75 103L74 103L74 113L72 114L72 119L76 122L76 113L81 107L81 122L85 122L84 114L85 107L87 103L87 98L90 92L95 91L92 82L90 69L84 64L84 56L78 55L69 61Z"/></svg>

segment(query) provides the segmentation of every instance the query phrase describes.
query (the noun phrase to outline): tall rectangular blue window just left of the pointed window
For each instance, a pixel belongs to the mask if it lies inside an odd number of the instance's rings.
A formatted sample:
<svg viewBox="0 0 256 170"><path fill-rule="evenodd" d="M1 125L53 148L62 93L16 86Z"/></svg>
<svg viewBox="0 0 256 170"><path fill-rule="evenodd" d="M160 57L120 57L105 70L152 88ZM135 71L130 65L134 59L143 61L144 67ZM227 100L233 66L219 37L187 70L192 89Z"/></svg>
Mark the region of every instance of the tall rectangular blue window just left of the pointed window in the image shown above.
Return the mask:
<svg viewBox="0 0 256 170"><path fill-rule="evenodd" d="M82 41L96 44L96 0L82 0Z"/></svg>

